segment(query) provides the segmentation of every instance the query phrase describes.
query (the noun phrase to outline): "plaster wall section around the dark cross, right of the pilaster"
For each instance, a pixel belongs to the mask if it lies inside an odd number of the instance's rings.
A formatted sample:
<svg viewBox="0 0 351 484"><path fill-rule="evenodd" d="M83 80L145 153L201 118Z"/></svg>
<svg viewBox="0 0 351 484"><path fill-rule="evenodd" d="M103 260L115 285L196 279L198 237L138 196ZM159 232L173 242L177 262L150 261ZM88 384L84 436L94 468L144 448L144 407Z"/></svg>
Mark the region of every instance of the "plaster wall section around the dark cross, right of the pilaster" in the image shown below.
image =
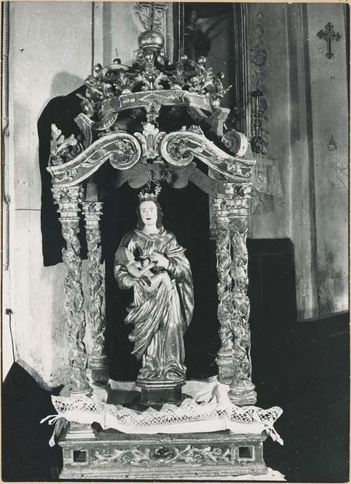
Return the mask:
<svg viewBox="0 0 351 484"><path fill-rule="evenodd" d="M348 74L345 8L309 3L307 35L310 60L314 197L316 224L317 315L348 310ZM327 42L316 33L331 22L341 34Z"/></svg>

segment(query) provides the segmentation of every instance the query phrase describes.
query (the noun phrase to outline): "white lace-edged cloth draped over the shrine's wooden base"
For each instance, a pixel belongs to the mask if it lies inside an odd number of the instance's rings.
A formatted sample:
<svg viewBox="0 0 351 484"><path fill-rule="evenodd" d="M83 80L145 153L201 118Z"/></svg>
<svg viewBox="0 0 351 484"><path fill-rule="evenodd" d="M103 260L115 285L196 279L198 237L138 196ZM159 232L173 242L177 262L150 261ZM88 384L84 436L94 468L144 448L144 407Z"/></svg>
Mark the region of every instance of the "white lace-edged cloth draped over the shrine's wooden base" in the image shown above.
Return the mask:
<svg viewBox="0 0 351 484"><path fill-rule="evenodd" d="M283 440L274 429L274 422L283 413L280 407L267 410L254 406L237 407L231 404L228 397L225 398L228 389L226 385L214 380L208 383L210 392L206 391L206 385L202 388L201 385L195 385L195 393L197 397L202 394L207 398L211 394L210 402L196 402L193 398L186 398L179 407L164 404L160 410L148 408L137 411L123 407L122 404L108 404L86 396L52 395L57 415L48 416L41 423L48 420L49 425L53 425L62 418L82 424L97 422L102 429L115 429L126 434L189 434L227 429L236 434L260 434L266 431L273 440L283 445ZM188 385L188 394L189 389L191 385ZM55 433L50 445L55 443Z"/></svg>

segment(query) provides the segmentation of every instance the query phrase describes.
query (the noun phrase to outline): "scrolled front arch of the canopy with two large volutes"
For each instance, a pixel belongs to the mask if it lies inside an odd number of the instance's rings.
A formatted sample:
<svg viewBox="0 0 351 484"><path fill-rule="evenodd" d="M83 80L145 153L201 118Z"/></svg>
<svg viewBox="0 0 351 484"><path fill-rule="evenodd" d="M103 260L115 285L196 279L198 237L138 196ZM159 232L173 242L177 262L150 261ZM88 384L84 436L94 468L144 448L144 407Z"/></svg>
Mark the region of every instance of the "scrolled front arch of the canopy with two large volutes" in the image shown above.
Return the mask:
<svg viewBox="0 0 351 484"><path fill-rule="evenodd" d="M254 160L226 153L208 140L196 126L165 133L153 124L146 123L142 133L109 133L86 149L82 149L73 136L64 139L55 125L52 129L55 164L50 165L48 171L53 177L54 187L78 185L107 161L115 169L124 171L138 162L145 165L153 161L186 167L195 157L231 183L249 183L255 163ZM70 156L72 158L68 159Z"/></svg>

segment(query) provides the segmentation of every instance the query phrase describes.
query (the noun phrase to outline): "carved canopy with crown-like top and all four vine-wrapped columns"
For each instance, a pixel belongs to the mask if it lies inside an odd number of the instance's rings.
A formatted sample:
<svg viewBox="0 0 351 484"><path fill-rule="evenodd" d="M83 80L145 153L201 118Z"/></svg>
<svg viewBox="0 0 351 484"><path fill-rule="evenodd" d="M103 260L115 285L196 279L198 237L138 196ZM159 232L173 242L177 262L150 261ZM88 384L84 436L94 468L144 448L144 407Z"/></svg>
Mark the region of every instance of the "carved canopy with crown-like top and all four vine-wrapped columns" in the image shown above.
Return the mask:
<svg viewBox="0 0 351 484"><path fill-rule="evenodd" d="M119 175L114 187L126 181L131 187L141 187L152 172L155 180L173 187L184 187L191 180L214 197L221 341L218 377L220 382L231 382L229 396L234 403L254 404L245 241L255 162L245 158L245 135L226 127L229 110L220 107L220 101L229 88L223 88L220 73L205 68L205 57L194 62L180 55L178 62L170 64L162 52L160 32L146 30L138 41L140 50L133 66L115 59L104 68L98 64L87 77L85 96L78 94L82 113L75 118L80 131L77 138L65 138L59 127L52 126L48 171L66 241L70 393L91 393L84 346L80 206L89 261L87 321L94 342L88 365L93 380L106 381L108 376L103 344L104 276L99 265L102 202L82 195L82 187L94 184L95 173L109 163ZM181 122L186 120L184 126L167 129L165 110L169 119L180 113ZM208 174L196 162L207 165Z"/></svg>

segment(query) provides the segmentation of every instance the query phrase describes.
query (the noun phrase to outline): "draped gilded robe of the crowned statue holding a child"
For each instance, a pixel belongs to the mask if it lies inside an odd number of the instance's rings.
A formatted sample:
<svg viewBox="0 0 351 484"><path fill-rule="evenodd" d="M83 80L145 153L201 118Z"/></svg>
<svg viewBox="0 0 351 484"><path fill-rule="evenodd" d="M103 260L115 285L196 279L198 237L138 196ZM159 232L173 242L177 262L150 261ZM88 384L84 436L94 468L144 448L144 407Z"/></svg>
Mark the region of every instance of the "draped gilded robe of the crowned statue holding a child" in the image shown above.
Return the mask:
<svg viewBox="0 0 351 484"><path fill-rule="evenodd" d="M139 284L134 286L134 302L125 322L134 325L129 339L134 342L137 359L142 357L139 378L184 378L183 335L193 315L193 281L185 249L164 227L158 234L135 229L124 236L120 243L123 247L131 250L135 259L147 257L154 250L163 254L169 260L167 273L173 281L171 290L161 283L151 294ZM115 261L114 272L120 288L129 288L132 276L126 268Z"/></svg>

